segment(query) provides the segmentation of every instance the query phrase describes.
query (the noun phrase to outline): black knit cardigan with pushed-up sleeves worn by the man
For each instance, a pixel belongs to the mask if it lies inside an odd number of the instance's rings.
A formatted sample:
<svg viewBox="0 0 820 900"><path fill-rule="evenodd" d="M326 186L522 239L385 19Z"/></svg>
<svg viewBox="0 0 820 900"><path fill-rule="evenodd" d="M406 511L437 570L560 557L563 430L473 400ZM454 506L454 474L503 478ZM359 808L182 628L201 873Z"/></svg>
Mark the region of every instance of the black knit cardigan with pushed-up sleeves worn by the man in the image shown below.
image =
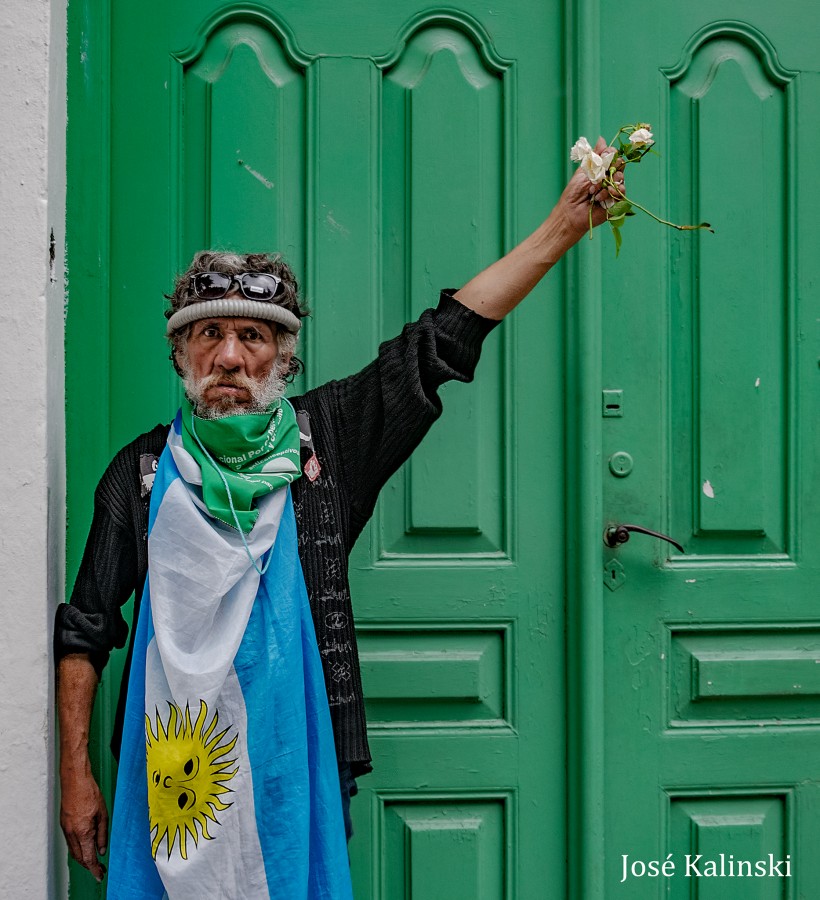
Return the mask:
<svg viewBox="0 0 820 900"><path fill-rule="evenodd" d="M349 378L291 398L310 417L319 477L291 486L299 557L322 658L336 753L354 775L370 770L359 657L348 582L348 556L387 479L441 414L438 388L471 381L481 344L497 323L441 294L435 310L379 348ZM159 457L168 425L140 435L114 457L94 495L94 517L71 599L57 610L55 658L88 653L98 673L128 627L121 606L136 594L134 621L148 570L148 503L141 457ZM135 629L132 629L132 632ZM111 746L119 755L133 633Z"/></svg>

